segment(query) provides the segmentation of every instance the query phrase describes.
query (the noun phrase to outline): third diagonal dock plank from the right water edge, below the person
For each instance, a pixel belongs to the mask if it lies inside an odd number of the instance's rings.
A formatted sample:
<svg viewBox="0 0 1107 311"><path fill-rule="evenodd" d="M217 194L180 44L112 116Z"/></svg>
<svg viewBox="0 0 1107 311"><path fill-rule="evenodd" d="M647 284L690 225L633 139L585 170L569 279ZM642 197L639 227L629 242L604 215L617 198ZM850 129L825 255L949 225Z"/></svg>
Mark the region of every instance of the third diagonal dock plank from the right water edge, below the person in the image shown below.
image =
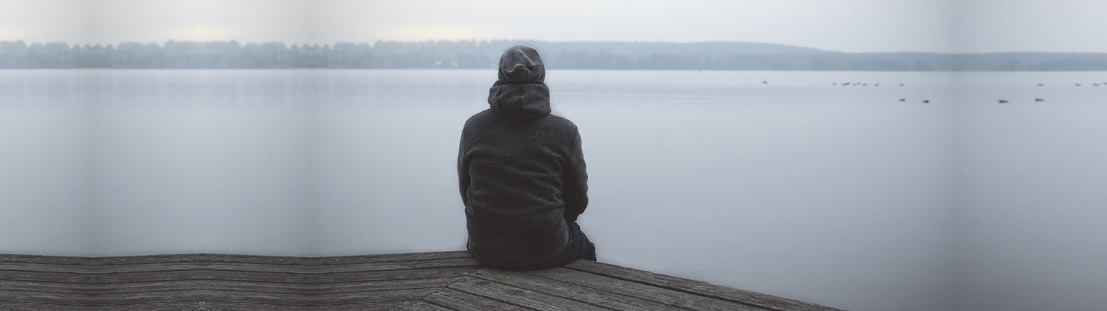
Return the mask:
<svg viewBox="0 0 1107 311"><path fill-rule="evenodd" d="M472 277L611 310L689 310L516 271L484 268L473 273Z"/></svg>

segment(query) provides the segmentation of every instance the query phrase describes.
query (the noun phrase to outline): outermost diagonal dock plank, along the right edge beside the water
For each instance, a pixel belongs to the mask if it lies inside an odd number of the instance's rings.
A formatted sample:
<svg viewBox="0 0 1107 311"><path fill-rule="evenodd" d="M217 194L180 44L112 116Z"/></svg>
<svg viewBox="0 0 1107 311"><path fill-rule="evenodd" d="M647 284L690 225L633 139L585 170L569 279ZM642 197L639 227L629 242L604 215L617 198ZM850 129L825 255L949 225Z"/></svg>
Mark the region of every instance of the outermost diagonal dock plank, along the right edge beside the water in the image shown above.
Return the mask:
<svg viewBox="0 0 1107 311"><path fill-rule="evenodd" d="M566 265L565 268L600 274L620 280L645 283L664 289L706 296L716 299L755 305L762 309L785 311L842 311L841 309L815 304L810 302L793 300L772 294L753 292L732 287L712 284L704 281L690 280L673 276L665 276L650 271L643 271L627 267L601 263L590 260L577 260Z"/></svg>

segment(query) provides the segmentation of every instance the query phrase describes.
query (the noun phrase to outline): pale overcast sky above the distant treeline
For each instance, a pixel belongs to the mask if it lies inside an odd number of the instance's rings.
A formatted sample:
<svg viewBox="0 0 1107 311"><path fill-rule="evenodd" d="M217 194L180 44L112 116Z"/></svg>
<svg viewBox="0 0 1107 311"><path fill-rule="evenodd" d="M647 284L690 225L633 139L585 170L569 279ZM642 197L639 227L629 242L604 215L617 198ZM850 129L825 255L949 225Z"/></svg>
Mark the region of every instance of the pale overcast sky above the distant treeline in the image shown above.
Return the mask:
<svg viewBox="0 0 1107 311"><path fill-rule="evenodd" d="M751 41L847 52L1107 52L1101 0L0 0L0 40Z"/></svg>

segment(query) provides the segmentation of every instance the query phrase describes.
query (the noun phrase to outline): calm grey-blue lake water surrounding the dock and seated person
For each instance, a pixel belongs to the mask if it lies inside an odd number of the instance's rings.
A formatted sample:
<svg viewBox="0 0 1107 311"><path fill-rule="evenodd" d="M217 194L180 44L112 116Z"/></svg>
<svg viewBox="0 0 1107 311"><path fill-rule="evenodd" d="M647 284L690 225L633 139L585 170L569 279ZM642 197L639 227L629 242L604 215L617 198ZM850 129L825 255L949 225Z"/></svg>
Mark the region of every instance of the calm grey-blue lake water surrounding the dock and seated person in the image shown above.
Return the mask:
<svg viewBox="0 0 1107 311"><path fill-rule="evenodd" d="M458 139L495 79L0 71L0 252L464 249ZM1107 305L1093 83L1107 73L547 74L600 261L858 311Z"/></svg>

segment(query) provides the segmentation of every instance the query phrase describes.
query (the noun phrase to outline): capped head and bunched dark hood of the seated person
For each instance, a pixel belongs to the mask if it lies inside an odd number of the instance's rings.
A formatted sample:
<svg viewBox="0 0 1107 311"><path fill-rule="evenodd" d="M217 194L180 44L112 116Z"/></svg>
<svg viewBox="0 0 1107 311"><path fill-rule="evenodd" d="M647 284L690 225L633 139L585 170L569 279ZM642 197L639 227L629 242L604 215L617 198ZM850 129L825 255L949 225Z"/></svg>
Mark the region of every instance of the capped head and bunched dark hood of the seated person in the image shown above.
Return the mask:
<svg viewBox="0 0 1107 311"><path fill-rule="evenodd" d="M538 118L550 113L546 65L538 50L527 44L508 46L499 56L499 80L488 90L488 105L510 118Z"/></svg>

